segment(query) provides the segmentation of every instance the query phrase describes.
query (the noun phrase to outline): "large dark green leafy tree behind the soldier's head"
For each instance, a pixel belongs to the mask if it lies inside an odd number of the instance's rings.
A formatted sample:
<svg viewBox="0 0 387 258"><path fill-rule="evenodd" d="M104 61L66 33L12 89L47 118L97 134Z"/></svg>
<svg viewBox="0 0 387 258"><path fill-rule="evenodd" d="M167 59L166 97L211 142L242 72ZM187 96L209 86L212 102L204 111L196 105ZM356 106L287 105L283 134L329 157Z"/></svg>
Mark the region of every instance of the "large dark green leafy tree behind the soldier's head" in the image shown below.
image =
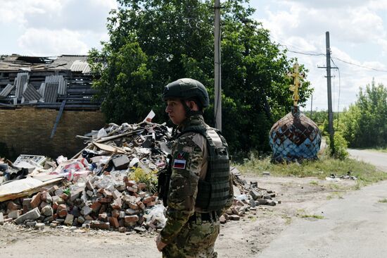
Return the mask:
<svg viewBox="0 0 387 258"><path fill-rule="evenodd" d="M90 53L94 87L105 97L108 121L141 121L153 109L164 122L163 87L194 78L214 99L214 13L210 0L118 0L110 12L110 39ZM231 151L269 150L272 124L291 109L286 74L293 61L269 31L250 18L247 0L222 3L222 129ZM301 72L307 72L300 65ZM312 90L303 80L300 106ZM205 120L213 125L213 102Z"/></svg>

